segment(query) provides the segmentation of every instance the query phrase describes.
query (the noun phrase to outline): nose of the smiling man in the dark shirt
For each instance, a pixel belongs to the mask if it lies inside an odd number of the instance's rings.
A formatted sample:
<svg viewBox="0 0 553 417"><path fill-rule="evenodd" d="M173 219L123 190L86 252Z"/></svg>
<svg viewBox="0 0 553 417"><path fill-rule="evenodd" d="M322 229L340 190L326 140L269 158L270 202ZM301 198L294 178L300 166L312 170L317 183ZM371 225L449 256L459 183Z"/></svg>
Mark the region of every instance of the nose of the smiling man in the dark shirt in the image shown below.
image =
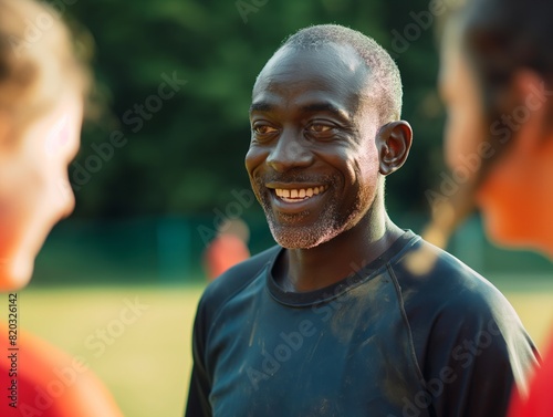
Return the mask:
<svg viewBox="0 0 553 417"><path fill-rule="evenodd" d="M313 163L313 154L307 145L300 135L293 132L283 132L271 149L267 164L279 173L307 167Z"/></svg>

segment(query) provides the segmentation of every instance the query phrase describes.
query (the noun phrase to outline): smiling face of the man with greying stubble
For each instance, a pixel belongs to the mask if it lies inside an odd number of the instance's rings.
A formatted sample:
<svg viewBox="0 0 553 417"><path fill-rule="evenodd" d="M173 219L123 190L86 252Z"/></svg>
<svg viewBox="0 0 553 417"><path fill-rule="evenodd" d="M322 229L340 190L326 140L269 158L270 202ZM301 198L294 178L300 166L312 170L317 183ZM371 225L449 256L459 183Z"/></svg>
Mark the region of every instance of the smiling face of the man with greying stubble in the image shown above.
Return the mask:
<svg viewBox="0 0 553 417"><path fill-rule="evenodd" d="M368 70L348 46L284 48L252 93L246 167L278 243L313 248L353 228L380 184Z"/></svg>

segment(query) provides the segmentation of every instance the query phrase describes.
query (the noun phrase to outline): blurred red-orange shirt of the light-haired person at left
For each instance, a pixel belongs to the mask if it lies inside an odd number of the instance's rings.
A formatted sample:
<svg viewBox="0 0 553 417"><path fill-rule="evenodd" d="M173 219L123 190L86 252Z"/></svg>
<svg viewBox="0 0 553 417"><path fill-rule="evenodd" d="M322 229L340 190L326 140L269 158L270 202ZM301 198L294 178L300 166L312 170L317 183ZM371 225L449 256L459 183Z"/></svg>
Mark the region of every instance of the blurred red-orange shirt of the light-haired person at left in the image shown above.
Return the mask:
<svg viewBox="0 0 553 417"><path fill-rule="evenodd" d="M123 416L83 359L21 330L14 346L9 336L0 323L1 417Z"/></svg>

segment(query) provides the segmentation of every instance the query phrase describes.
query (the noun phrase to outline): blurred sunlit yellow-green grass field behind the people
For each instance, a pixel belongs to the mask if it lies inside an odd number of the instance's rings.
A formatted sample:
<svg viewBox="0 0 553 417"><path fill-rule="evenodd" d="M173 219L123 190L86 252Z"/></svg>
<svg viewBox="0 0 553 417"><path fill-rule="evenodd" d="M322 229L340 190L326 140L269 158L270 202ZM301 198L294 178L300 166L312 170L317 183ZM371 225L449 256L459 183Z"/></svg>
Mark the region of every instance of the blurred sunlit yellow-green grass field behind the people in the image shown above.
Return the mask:
<svg viewBox="0 0 553 417"><path fill-rule="evenodd" d="M553 325L553 289L500 288L543 346ZM19 295L20 325L84 356L125 416L177 417L188 389L200 293L199 286L29 289Z"/></svg>

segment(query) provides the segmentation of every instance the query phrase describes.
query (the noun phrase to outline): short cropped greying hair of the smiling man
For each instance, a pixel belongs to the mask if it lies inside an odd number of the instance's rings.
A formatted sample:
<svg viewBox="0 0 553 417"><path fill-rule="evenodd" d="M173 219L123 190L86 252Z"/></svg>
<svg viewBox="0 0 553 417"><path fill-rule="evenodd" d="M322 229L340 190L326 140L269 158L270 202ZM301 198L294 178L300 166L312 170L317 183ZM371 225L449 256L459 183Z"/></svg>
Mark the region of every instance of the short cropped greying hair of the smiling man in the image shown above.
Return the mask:
<svg viewBox="0 0 553 417"><path fill-rule="evenodd" d="M301 29L282 43L283 48L314 50L334 43L349 45L371 72L380 123L399 119L401 115L401 77L392 56L374 39L338 24L319 24Z"/></svg>

